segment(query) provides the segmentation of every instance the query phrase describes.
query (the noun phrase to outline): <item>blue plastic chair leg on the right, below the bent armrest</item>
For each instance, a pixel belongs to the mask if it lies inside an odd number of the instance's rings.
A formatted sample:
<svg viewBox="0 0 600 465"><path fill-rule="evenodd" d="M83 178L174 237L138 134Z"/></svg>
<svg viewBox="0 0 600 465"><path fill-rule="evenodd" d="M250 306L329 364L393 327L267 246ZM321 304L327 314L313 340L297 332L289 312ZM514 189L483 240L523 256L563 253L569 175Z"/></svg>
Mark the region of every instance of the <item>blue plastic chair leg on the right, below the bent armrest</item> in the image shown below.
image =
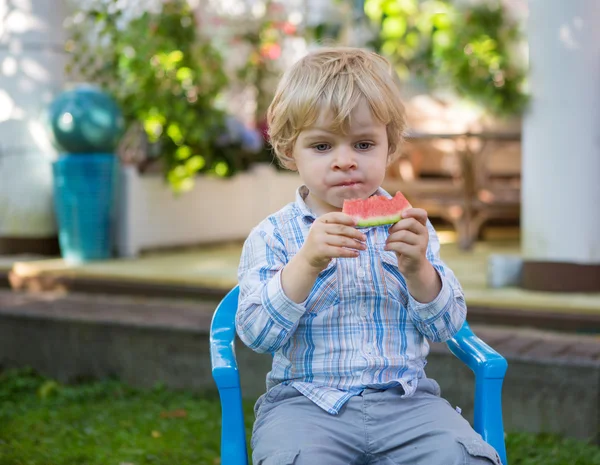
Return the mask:
<svg viewBox="0 0 600 465"><path fill-rule="evenodd" d="M496 449L503 465L507 465L502 420L503 378L475 381L474 428L481 437Z"/></svg>

